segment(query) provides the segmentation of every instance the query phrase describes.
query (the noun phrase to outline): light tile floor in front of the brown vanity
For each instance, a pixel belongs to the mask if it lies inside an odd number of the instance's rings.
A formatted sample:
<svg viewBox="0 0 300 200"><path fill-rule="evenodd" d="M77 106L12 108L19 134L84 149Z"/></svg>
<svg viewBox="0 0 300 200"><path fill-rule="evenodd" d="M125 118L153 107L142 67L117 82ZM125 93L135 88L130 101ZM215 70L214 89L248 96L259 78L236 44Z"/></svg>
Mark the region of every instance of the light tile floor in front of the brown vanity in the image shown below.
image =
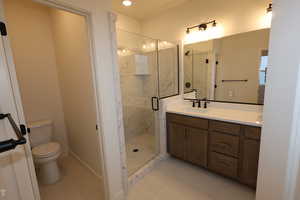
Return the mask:
<svg viewBox="0 0 300 200"><path fill-rule="evenodd" d="M128 200L254 200L255 191L170 158L134 185Z"/></svg>

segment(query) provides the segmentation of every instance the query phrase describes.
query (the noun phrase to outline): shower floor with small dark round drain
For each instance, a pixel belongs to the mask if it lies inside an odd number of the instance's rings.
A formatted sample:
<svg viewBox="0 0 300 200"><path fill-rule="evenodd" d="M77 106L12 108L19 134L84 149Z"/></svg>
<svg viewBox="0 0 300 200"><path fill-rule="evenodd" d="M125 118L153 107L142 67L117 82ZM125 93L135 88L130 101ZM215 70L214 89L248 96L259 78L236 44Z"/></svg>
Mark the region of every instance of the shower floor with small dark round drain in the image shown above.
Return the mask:
<svg viewBox="0 0 300 200"><path fill-rule="evenodd" d="M135 136L126 141L129 175L135 173L155 157L155 144L155 136L150 134Z"/></svg>

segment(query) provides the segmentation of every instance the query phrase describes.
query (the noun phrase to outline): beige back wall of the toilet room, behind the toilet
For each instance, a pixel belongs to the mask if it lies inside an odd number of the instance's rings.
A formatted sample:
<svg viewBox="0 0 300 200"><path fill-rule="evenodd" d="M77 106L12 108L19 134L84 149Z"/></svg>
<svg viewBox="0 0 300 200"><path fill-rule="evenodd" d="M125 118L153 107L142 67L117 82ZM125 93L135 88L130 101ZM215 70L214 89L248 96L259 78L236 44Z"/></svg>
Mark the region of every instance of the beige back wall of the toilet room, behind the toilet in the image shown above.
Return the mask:
<svg viewBox="0 0 300 200"><path fill-rule="evenodd" d="M9 39L27 122L50 119L54 139L68 149L48 8L29 0L4 1Z"/></svg>

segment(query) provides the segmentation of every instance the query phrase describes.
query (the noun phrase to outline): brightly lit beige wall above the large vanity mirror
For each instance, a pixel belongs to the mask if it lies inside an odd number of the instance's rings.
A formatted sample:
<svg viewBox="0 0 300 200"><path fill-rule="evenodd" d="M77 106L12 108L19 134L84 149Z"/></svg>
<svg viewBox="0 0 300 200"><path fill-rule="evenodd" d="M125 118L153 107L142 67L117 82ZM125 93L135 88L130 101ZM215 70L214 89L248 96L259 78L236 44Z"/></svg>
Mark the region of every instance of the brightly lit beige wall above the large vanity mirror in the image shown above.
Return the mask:
<svg viewBox="0 0 300 200"><path fill-rule="evenodd" d="M142 22L142 32L150 37L168 41L180 41L186 28L209 20L217 20L222 36L262 29L269 0L253 1L199 1L170 9L165 13Z"/></svg>

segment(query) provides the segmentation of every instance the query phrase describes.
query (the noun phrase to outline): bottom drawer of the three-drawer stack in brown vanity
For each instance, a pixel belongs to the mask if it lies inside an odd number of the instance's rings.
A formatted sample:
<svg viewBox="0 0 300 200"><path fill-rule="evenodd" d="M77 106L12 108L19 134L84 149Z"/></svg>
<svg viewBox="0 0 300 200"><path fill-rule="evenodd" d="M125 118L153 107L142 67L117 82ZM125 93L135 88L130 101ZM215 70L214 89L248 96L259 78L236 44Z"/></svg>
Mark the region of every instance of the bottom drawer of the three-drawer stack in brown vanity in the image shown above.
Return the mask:
<svg viewBox="0 0 300 200"><path fill-rule="evenodd" d="M209 169L231 178L237 178L238 160L219 153L210 152Z"/></svg>

